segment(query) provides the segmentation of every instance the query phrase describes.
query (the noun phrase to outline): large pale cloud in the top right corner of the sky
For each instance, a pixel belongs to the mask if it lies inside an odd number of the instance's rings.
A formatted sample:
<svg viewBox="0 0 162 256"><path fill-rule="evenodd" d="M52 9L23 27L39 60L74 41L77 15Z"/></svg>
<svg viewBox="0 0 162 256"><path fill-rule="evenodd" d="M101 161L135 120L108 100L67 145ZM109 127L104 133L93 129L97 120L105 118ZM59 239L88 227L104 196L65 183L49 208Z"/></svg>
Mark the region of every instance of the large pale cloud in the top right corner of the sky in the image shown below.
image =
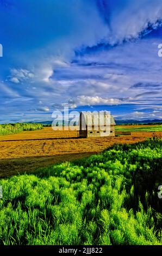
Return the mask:
<svg viewBox="0 0 162 256"><path fill-rule="evenodd" d="M148 25L149 27L152 25L153 28L158 26L157 21L160 21L162 16L160 0L122 0L121 2L121 5L114 2L113 8L108 4L111 12L111 29L107 40L110 44L122 42L124 39L139 38L141 32L147 33Z"/></svg>

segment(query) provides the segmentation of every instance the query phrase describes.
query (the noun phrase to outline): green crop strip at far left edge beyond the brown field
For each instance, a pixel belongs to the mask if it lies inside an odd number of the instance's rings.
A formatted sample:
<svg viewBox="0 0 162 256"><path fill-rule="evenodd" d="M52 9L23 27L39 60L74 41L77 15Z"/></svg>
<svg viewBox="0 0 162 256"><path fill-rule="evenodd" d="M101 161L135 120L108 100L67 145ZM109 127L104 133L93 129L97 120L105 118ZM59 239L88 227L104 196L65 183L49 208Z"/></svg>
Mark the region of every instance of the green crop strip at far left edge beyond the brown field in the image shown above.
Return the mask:
<svg viewBox="0 0 162 256"><path fill-rule="evenodd" d="M1 124L0 135L12 135L22 131L35 131L43 129L42 124L34 123L16 123L16 124Z"/></svg>

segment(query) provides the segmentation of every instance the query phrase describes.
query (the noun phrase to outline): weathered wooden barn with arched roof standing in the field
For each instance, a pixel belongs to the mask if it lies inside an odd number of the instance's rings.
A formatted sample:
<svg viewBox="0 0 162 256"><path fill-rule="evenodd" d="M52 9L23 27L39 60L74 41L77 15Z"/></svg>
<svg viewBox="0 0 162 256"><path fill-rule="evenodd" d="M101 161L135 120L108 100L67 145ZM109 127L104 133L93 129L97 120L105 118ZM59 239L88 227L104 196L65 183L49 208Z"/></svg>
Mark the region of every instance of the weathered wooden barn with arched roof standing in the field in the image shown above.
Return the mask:
<svg viewBox="0 0 162 256"><path fill-rule="evenodd" d="M80 112L78 136L115 137L115 120L110 112Z"/></svg>

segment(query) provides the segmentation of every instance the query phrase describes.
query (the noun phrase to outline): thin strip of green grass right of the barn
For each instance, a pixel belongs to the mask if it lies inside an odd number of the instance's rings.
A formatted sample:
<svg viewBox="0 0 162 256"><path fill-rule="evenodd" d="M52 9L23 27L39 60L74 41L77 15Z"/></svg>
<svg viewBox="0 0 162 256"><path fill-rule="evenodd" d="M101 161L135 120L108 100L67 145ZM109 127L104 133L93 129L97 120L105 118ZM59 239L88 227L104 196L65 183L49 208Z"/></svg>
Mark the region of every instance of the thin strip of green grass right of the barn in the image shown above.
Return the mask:
<svg viewBox="0 0 162 256"><path fill-rule="evenodd" d="M126 131L126 132L160 132L162 131L162 125L146 126L146 127L122 127L116 126L116 131Z"/></svg>

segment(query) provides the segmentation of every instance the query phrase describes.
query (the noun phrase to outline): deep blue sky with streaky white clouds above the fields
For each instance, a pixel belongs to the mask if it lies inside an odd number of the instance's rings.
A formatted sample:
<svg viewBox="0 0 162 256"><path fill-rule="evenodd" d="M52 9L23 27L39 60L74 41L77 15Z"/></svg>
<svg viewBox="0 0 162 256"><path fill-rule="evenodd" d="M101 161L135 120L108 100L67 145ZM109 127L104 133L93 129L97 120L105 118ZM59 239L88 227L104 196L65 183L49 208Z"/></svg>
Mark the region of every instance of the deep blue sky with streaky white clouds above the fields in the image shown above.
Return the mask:
<svg viewBox="0 0 162 256"><path fill-rule="evenodd" d="M0 123L162 119L161 0L0 0Z"/></svg>

